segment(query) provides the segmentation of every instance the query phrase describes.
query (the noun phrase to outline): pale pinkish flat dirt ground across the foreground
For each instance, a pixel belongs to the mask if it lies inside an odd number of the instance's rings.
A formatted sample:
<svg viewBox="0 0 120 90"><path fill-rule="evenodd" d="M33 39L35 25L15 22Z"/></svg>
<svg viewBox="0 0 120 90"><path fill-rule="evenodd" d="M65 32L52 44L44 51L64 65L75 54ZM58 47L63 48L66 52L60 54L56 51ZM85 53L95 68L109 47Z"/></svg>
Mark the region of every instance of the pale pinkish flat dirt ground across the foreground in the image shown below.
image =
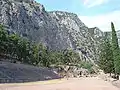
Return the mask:
<svg viewBox="0 0 120 90"><path fill-rule="evenodd" d="M120 90L98 77L59 81L49 84L0 85L0 90Z"/></svg>

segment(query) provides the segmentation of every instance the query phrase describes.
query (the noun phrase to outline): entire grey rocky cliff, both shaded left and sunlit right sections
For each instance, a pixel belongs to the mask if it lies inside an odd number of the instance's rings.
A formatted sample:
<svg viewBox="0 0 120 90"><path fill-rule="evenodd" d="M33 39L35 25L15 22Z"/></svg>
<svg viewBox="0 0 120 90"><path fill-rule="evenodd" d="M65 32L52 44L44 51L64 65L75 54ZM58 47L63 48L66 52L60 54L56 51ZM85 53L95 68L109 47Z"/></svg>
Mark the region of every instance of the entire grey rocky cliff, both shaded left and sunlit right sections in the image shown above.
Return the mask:
<svg viewBox="0 0 120 90"><path fill-rule="evenodd" d="M98 60L103 32L88 28L76 14L47 12L33 0L0 0L0 23L10 32L42 42L50 49L72 48L82 60Z"/></svg>

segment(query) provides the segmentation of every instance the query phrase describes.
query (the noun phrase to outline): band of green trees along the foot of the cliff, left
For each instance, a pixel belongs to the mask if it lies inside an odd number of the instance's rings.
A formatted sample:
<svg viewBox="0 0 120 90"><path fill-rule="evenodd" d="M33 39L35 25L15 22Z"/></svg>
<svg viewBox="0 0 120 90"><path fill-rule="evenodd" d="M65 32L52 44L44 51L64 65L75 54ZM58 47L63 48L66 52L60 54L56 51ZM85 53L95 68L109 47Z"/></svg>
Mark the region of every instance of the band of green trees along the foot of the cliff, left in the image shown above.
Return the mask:
<svg viewBox="0 0 120 90"><path fill-rule="evenodd" d="M11 34L0 25L0 58L19 61L35 66L49 67L52 64L77 64L79 54L71 49L52 51L43 44L35 44L17 34Z"/></svg>

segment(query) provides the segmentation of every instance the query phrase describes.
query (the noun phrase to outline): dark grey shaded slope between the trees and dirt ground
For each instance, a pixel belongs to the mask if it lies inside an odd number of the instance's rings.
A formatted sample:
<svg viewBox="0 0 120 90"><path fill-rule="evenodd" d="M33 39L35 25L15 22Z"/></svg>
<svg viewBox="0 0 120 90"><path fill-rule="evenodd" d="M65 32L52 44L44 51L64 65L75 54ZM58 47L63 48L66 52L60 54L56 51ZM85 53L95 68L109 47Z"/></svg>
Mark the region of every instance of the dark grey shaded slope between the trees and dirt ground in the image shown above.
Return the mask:
<svg viewBox="0 0 120 90"><path fill-rule="evenodd" d="M0 62L0 83L25 83L59 78L58 74L48 68Z"/></svg>

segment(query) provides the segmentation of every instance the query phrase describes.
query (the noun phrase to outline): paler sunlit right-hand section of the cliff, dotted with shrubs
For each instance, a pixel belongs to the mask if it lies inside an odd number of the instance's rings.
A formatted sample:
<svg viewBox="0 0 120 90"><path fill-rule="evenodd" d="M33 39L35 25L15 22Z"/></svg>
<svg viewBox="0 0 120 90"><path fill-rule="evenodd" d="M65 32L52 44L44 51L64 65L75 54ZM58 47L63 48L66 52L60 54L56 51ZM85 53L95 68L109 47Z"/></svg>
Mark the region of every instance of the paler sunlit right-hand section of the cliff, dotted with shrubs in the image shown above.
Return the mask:
<svg viewBox="0 0 120 90"><path fill-rule="evenodd" d="M73 49L80 53L82 60L98 60L100 43L103 32L98 28L88 28L76 14L67 12L50 12L50 15L59 23L62 33L66 33ZM65 37L64 35L61 35Z"/></svg>

